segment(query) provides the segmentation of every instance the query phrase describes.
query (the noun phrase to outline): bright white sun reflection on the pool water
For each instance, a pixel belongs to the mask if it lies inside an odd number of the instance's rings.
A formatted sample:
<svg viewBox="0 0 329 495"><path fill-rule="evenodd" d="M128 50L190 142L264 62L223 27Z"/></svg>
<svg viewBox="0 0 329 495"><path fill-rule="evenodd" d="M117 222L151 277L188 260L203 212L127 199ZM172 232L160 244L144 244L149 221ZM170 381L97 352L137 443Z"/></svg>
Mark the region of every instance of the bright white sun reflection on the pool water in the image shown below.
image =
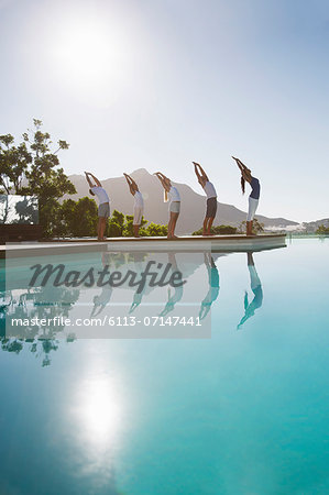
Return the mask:
<svg viewBox="0 0 329 495"><path fill-rule="evenodd" d="M76 476L92 480L90 493L117 494L114 460L127 430L128 406L122 394L122 373L116 367L109 374L100 345L90 342L86 369L72 387L63 416L69 443L79 452L73 461Z"/></svg>

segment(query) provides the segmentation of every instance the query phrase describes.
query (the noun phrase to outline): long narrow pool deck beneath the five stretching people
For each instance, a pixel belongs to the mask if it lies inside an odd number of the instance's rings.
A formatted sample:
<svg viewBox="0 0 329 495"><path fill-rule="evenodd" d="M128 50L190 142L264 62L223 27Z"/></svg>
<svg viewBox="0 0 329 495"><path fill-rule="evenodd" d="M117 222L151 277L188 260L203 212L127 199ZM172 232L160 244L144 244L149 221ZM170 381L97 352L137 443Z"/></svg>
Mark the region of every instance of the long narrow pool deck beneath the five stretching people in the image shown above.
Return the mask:
<svg viewBox="0 0 329 495"><path fill-rule="evenodd" d="M286 246L285 234L260 235L184 235L179 239L166 238L108 238L106 241L95 239L52 239L40 242L18 242L0 245L0 257L6 252L12 256L43 255L46 252L58 254L90 251L149 251L149 252L248 252L263 251Z"/></svg>

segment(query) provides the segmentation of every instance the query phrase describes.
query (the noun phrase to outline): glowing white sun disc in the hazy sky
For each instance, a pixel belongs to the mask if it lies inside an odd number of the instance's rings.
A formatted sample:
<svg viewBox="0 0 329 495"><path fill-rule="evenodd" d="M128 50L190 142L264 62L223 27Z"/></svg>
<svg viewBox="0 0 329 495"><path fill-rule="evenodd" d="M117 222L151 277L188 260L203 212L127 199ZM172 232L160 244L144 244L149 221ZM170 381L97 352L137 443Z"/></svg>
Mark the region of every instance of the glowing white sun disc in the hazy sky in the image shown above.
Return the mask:
<svg viewBox="0 0 329 495"><path fill-rule="evenodd" d="M73 19L61 24L52 45L52 66L75 92L107 98L129 79L128 40L100 19Z"/></svg>

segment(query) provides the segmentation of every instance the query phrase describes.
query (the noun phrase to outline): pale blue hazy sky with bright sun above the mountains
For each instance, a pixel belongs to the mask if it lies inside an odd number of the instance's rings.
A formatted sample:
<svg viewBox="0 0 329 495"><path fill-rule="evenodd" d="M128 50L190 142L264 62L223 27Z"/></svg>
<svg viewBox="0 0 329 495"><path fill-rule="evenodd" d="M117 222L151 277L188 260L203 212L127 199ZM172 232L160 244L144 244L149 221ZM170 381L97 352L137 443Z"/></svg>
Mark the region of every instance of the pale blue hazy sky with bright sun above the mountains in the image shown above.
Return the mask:
<svg viewBox="0 0 329 495"><path fill-rule="evenodd" d="M0 0L0 134L41 119L69 174L144 167L245 211L329 217L327 0ZM113 206L114 207L114 206Z"/></svg>

